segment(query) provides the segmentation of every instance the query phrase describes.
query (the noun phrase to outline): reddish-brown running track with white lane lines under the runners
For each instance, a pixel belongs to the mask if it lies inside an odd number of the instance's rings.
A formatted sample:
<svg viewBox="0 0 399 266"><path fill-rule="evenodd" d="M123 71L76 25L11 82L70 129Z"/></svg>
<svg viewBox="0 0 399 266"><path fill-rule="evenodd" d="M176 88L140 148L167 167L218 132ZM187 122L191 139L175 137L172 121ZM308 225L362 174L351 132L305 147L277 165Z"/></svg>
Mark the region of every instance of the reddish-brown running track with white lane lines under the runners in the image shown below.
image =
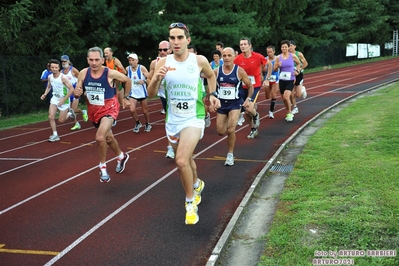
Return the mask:
<svg viewBox="0 0 399 266"><path fill-rule="evenodd" d="M399 58L305 74L306 100L294 121L284 120L278 99L258 100L259 135L247 140L237 127L236 164L225 167L225 137L212 125L195 151L206 185L200 220L184 224L184 193L173 160L165 159L164 116L150 101L153 130L132 132L121 111L114 134L130 160L122 174L108 152L111 182L100 183L91 123L70 131L57 124L61 141L47 141L48 122L0 131L0 265L205 265L254 178L279 146L322 110L358 92L399 78ZM139 110L140 112L140 110ZM140 116L143 122L142 115Z"/></svg>

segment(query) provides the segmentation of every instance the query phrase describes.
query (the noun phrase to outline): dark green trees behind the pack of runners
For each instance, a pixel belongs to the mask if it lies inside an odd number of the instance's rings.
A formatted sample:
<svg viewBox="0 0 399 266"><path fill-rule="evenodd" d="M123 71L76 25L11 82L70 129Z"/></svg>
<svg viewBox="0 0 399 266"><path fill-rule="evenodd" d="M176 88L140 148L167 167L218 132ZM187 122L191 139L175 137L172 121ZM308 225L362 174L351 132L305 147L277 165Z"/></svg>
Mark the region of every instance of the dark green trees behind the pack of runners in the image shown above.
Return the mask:
<svg viewBox="0 0 399 266"><path fill-rule="evenodd" d="M83 68L88 48L112 47L118 57L135 52L149 66L172 22L185 23L192 44L209 59L217 41L238 49L240 38L249 37L265 54L266 46L279 51L281 40L289 39L315 67L343 57L335 51L347 43L384 47L399 28L398 13L397 0L3 0L0 79L6 81L0 82L0 108L7 94L7 109L21 112L17 88L40 87L45 63L64 53ZM21 77L27 67L29 77ZM30 100L22 112L38 108L40 103Z"/></svg>

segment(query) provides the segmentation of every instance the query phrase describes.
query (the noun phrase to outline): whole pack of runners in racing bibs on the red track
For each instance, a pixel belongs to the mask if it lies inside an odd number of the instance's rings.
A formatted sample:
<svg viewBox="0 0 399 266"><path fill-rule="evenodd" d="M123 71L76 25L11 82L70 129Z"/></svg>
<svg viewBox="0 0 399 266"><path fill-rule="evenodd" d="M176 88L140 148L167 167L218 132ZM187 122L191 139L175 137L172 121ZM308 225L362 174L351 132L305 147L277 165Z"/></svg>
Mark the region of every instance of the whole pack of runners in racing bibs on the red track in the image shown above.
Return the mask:
<svg viewBox="0 0 399 266"><path fill-rule="evenodd" d="M274 119L277 95L286 109L285 120L291 122L299 109L297 98L306 98L303 71L308 63L301 52L296 51L294 41L281 41L281 54L275 55L273 46L266 48L267 56L253 51L249 38L241 38L240 51L215 44L212 61L198 55L191 44L188 27L180 22L168 27L169 39L158 46L158 56L149 69L139 64L140 56L127 56L127 67L113 56L110 47L92 47L87 52L88 67L77 70L68 55L51 59L43 71L41 80L46 89L41 99L50 98L49 122L52 135L50 142L60 140L55 117L64 123L68 118L75 123L71 130L79 130L77 115L83 121L90 120L97 129L95 140L99 154L100 181L109 182L111 176L106 165L108 147L117 156L116 173L125 170L129 154L123 152L112 133L120 108L129 109L133 118L132 132L151 132L148 99L158 97L165 114L167 137L166 158L174 159L185 192L186 224L199 220L198 205L205 182L197 176L193 159L194 150L216 115L216 132L227 135L227 155L224 165L234 165L236 127L248 123L247 139L258 135L261 115L257 100L263 91L270 99L268 117ZM50 97L51 96L51 97ZM79 98L85 97L87 110L79 109ZM138 104L144 120L139 119ZM142 123L143 122L143 123Z"/></svg>

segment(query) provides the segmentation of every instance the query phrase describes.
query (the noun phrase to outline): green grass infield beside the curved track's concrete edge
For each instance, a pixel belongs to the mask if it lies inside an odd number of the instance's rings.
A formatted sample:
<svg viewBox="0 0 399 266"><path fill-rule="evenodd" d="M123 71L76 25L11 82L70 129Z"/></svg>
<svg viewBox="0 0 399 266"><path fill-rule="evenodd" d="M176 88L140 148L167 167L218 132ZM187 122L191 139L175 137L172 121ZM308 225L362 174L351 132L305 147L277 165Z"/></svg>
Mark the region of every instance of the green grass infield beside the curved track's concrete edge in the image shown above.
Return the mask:
<svg viewBox="0 0 399 266"><path fill-rule="evenodd" d="M264 236L259 265L312 265L321 258L315 251L399 247L398 98L396 83L358 99L309 139ZM399 265L399 257L349 258L355 265Z"/></svg>

